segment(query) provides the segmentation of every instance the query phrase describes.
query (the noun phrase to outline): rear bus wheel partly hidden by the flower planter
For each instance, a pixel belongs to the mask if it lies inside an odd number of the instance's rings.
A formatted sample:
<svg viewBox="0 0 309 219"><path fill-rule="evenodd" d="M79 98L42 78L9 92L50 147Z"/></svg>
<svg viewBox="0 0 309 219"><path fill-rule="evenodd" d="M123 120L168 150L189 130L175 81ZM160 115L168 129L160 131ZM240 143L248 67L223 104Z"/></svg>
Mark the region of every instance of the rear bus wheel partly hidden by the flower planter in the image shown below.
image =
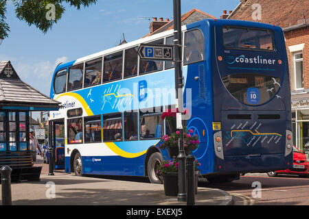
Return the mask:
<svg viewBox="0 0 309 219"><path fill-rule="evenodd" d="M161 184L162 179L157 175L157 168L163 162L161 153L153 153L148 159L147 173L150 183Z"/></svg>

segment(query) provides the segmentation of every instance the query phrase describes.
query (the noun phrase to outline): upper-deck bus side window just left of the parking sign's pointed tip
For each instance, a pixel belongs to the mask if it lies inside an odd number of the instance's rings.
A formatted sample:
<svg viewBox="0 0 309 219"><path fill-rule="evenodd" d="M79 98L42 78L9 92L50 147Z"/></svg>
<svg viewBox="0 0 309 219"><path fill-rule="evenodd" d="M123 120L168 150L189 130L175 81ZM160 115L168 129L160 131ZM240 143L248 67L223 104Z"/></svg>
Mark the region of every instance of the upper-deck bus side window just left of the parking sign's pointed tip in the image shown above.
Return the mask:
<svg viewBox="0 0 309 219"><path fill-rule="evenodd" d="M137 50L139 47L126 49L124 55L124 78L133 77L137 75Z"/></svg>

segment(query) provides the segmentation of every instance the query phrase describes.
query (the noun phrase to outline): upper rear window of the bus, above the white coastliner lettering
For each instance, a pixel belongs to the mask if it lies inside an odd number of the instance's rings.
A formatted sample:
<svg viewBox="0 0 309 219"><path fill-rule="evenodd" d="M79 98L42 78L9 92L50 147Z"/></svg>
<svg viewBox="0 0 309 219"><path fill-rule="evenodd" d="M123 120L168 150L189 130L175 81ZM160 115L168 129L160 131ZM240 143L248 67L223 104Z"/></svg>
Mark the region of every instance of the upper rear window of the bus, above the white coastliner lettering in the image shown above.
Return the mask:
<svg viewBox="0 0 309 219"><path fill-rule="evenodd" d="M225 49L273 51L273 32L268 29L222 27Z"/></svg>

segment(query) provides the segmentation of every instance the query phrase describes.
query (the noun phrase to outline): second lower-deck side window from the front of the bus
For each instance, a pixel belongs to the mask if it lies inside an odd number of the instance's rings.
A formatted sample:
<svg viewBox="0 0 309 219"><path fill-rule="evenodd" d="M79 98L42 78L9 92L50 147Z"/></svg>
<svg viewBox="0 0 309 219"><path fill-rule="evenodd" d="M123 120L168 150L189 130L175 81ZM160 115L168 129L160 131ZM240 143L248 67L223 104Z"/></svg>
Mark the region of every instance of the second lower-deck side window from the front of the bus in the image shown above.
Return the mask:
<svg viewBox="0 0 309 219"><path fill-rule="evenodd" d="M84 142L102 142L101 116L84 118Z"/></svg>

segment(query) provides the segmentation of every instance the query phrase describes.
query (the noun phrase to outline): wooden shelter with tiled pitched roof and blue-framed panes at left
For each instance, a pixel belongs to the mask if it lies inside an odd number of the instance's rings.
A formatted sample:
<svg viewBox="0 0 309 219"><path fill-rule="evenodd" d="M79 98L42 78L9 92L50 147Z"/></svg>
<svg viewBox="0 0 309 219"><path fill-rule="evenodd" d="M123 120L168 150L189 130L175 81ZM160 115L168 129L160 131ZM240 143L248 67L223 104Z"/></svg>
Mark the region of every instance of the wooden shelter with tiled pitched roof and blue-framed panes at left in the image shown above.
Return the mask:
<svg viewBox="0 0 309 219"><path fill-rule="evenodd" d="M0 61L0 167L12 168L12 180L38 180L30 150L30 112L57 111L59 102L21 81L10 61Z"/></svg>

